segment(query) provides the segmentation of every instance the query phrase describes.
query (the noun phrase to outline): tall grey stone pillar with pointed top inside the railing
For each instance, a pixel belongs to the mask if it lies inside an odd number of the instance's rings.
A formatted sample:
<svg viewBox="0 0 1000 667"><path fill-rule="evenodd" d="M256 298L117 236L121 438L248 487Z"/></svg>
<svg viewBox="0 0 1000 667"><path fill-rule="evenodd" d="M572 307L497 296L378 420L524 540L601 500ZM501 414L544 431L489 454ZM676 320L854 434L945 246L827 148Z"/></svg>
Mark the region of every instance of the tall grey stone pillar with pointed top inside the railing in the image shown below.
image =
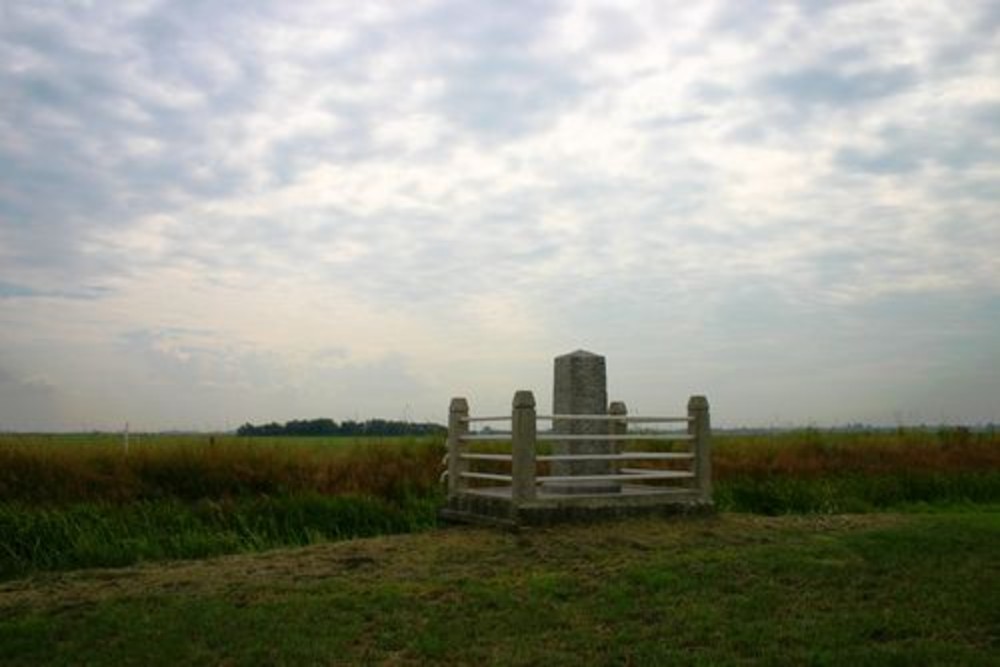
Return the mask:
<svg viewBox="0 0 1000 667"><path fill-rule="evenodd" d="M552 410L556 415L606 415L608 384L604 357L577 350L555 359ZM556 433L598 436L594 440L564 440L553 443L555 454L613 454L609 441L600 438L608 433L606 421L556 420ZM614 472L611 461L554 461L553 475L608 475ZM621 485L612 481L554 482L546 490L555 493L617 493Z"/></svg>

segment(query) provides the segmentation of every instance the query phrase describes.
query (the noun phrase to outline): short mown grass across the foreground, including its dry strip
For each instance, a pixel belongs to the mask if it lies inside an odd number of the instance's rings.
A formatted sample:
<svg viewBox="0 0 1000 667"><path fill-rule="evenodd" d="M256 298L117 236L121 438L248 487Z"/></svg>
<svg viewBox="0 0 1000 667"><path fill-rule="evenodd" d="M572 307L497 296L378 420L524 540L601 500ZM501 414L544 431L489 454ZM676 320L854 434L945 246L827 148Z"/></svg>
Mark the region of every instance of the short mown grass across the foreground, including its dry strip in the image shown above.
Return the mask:
<svg viewBox="0 0 1000 667"><path fill-rule="evenodd" d="M0 662L996 664L1000 512L450 529L0 585Z"/></svg>

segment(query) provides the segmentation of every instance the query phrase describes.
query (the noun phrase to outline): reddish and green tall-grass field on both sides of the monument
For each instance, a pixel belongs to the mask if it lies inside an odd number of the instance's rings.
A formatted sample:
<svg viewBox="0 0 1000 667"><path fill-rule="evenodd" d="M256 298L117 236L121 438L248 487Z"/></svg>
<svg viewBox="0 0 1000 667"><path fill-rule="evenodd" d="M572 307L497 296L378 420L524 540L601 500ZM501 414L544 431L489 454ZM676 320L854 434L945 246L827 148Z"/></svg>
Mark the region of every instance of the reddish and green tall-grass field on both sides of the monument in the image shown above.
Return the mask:
<svg viewBox="0 0 1000 667"><path fill-rule="evenodd" d="M437 439L2 436L0 578L427 530ZM769 515L1000 503L1000 438L716 438L716 503Z"/></svg>

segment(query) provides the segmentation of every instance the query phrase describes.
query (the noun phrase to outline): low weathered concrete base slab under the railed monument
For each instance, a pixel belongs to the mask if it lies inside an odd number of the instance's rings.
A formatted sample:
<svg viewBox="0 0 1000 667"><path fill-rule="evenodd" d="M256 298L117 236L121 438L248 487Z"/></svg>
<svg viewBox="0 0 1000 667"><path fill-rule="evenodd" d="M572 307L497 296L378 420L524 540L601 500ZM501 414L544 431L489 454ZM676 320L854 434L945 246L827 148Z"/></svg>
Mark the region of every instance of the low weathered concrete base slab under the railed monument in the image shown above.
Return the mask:
<svg viewBox="0 0 1000 667"><path fill-rule="evenodd" d="M441 509L445 521L516 528L648 515L704 514L715 509L710 500L689 489L652 488L623 484L616 494L550 494L514 505L510 487L474 489L449 498Z"/></svg>

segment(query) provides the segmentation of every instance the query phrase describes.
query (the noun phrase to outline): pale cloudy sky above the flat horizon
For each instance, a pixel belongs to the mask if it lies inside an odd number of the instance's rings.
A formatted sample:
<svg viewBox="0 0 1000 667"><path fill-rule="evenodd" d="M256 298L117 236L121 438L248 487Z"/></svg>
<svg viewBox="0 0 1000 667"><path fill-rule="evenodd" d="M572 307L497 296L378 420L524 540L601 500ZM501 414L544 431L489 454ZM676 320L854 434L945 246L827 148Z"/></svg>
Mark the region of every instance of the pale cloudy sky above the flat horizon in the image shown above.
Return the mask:
<svg viewBox="0 0 1000 667"><path fill-rule="evenodd" d="M1000 421L1000 3L0 0L0 430Z"/></svg>

